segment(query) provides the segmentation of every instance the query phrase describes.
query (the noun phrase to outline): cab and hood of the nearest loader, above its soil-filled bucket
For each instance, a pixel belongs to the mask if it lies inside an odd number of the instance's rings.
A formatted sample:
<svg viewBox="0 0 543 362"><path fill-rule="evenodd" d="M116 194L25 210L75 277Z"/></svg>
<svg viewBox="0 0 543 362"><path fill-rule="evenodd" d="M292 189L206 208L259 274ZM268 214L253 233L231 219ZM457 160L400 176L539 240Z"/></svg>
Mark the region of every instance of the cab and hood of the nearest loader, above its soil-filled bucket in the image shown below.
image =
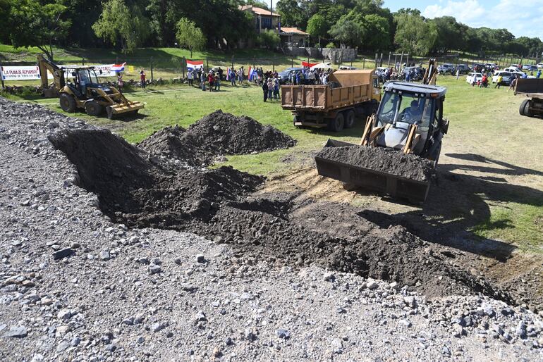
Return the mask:
<svg viewBox="0 0 543 362"><path fill-rule="evenodd" d="M382 132L374 134L373 141L400 150L410 143L411 153L436 160L435 151L448 127L443 119L445 94L446 88L437 85L387 82L372 125L372 132Z"/></svg>

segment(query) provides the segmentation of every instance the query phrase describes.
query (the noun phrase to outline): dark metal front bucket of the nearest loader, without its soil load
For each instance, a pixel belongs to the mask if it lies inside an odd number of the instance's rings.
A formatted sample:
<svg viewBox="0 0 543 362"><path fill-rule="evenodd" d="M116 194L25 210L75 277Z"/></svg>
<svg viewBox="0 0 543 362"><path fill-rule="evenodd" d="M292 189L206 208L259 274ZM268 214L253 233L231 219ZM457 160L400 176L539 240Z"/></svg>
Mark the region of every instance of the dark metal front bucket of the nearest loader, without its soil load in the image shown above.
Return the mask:
<svg viewBox="0 0 543 362"><path fill-rule="evenodd" d="M348 142L328 139L326 147L348 147L358 146ZM398 156L401 156L398 153ZM338 162L315 156L317 172L324 177L343 181L349 185L355 185L363 189L370 189L379 194L387 194L394 198L408 199L413 204L421 204L428 196L430 181L412 180L406 177L385 173L381 170L362 168L346 162Z"/></svg>

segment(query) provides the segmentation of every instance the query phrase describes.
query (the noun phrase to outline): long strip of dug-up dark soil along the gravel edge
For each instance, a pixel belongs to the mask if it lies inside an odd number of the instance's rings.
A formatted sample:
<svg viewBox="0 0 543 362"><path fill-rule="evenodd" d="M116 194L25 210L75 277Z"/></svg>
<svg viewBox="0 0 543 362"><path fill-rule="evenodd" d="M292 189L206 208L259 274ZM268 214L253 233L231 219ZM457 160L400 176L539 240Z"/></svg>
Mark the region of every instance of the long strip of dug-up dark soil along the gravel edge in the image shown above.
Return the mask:
<svg viewBox="0 0 543 362"><path fill-rule="evenodd" d="M351 206L300 203L291 194L255 196L262 177L227 167L180 167L107 130L63 131L49 140L114 222L190 231L281 266L315 263L410 285L429 297L480 292L513 302L458 266L453 249L400 226L382 229Z"/></svg>

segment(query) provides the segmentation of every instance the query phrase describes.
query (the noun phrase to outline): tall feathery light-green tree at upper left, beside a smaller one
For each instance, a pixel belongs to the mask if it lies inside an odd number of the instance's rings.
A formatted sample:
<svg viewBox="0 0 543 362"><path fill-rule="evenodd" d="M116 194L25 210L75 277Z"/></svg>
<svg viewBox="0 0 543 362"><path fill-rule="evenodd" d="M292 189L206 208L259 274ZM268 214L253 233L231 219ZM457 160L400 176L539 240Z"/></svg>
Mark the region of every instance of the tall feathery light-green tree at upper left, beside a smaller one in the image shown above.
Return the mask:
<svg viewBox="0 0 543 362"><path fill-rule="evenodd" d="M120 44L123 53L132 53L149 35L147 18L137 5L129 8L124 0L108 0L102 6L92 30L114 46Z"/></svg>

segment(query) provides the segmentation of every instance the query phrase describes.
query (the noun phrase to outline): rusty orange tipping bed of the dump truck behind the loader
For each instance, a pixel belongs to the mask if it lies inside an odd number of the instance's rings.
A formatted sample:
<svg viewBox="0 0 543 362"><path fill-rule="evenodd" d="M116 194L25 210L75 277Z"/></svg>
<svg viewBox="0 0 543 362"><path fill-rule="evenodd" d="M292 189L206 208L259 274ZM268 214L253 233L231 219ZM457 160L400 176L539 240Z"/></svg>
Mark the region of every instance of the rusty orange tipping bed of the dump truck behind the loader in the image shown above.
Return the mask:
<svg viewBox="0 0 543 362"><path fill-rule="evenodd" d="M373 70L338 70L332 73L330 85L283 85L283 109L329 112L370 101L373 91Z"/></svg>

